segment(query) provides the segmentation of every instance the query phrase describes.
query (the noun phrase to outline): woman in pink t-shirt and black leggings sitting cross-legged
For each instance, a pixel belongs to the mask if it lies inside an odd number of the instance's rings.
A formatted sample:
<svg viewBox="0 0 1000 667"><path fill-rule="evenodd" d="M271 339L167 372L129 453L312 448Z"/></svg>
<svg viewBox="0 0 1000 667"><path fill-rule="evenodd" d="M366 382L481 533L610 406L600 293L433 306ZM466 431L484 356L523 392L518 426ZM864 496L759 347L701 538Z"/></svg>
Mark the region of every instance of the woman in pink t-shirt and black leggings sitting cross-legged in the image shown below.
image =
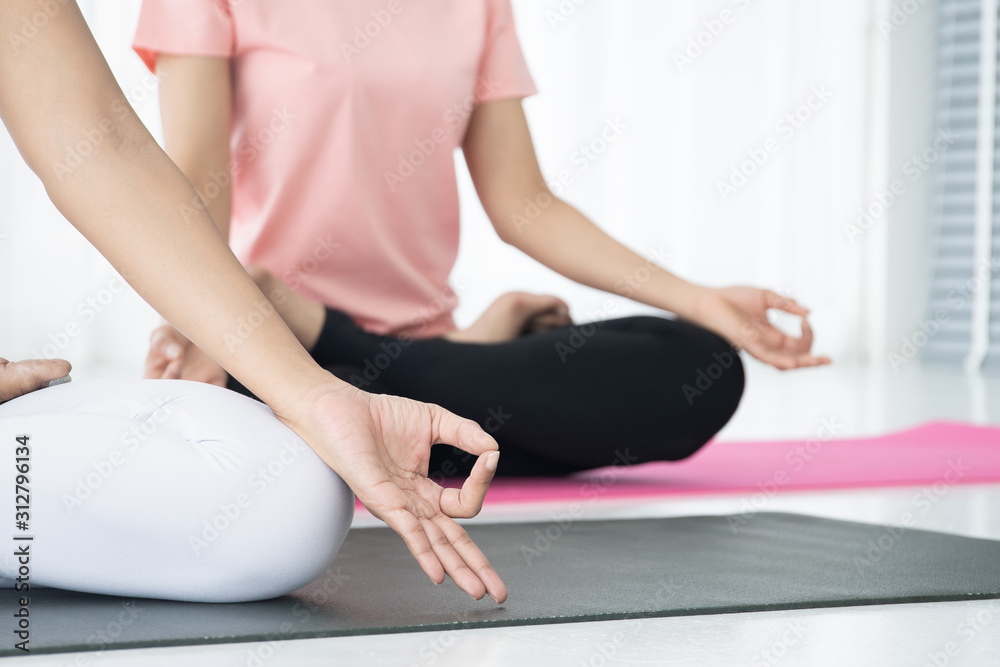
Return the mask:
<svg viewBox="0 0 1000 667"><path fill-rule="evenodd" d="M160 75L167 152L199 191L190 213L208 208L324 368L479 421L504 449L499 474L684 458L739 403L737 349L829 363L794 301L688 283L549 191L509 0L145 0L135 48ZM573 325L555 297L510 294L456 331L455 148L500 238L678 319ZM769 325L770 308L801 316L802 337ZM147 372L227 382L169 328ZM432 473L471 466L438 450Z"/></svg>

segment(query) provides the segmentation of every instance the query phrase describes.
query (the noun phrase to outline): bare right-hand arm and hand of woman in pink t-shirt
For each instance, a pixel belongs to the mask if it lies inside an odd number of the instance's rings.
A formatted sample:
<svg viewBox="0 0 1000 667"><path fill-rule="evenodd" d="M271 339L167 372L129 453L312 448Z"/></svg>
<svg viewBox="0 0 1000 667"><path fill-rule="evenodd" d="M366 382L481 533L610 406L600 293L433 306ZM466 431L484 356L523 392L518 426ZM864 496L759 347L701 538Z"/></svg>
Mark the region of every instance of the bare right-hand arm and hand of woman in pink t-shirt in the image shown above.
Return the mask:
<svg viewBox="0 0 1000 667"><path fill-rule="evenodd" d="M694 285L653 265L553 195L538 166L519 100L477 107L462 148L497 234L550 269L697 322L779 368L827 363L809 353L808 311L794 301L768 290ZM531 219L526 199L547 205L539 206L540 213ZM785 336L768 324L768 308L803 316L803 337Z"/></svg>

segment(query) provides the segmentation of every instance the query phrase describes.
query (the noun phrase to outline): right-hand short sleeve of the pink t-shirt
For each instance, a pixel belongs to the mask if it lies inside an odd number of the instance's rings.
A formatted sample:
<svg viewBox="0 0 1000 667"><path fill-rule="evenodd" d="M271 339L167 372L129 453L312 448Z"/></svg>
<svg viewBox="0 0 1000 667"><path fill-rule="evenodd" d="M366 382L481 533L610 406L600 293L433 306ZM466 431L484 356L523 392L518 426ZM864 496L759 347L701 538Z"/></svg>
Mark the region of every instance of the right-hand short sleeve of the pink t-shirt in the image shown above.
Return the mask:
<svg viewBox="0 0 1000 667"><path fill-rule="evenodd" d="M147 0L148 1L148 0ZM486 45L479 63L476 103L523 98L538 92L524 61L514 29L510 0L486 0L489 12Z"/></svg>

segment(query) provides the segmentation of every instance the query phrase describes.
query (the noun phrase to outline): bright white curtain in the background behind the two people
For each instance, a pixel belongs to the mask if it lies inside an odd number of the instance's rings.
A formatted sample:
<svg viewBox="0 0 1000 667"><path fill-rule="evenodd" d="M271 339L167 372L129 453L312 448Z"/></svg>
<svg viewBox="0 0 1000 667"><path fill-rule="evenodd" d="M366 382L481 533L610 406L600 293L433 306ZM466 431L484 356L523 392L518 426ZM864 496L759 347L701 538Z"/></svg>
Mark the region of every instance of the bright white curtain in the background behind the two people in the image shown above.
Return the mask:
<svg viewBox="0 0 1000 667"><path fill-rule="evenodd" d="M884 258L845 233L870 198L872 146L887 141L872 121L871 2L513 4L541 91L526 103L529 120L546 176L568 183L564 198L691 280L795 296L813 309L823 353L880 354L874 348L884 341L872 331L884 322L873 321L868 300ZM122 87L158 133L150 79L128 46L138 5L94 0L84 9ZM461 165L460 175L460 322L512 289L559 294L581 320L648 311L616 299L608 313L607 295L504 246ZM731 188L726 196L720 184ZM130 291L103 304L113 278L3 136L0 355L53 356L58 348L78 377L139 373L157 318Z"/></svg>

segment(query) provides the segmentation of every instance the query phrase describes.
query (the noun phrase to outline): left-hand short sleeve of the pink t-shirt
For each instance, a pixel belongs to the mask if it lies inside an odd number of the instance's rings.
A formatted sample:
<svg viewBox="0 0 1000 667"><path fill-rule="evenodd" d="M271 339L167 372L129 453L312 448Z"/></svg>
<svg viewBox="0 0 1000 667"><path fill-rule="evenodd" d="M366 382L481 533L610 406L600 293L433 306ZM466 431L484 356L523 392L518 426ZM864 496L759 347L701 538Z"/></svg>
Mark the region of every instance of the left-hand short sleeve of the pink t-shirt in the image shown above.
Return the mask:
<svg viewBox="0 0 1000 667"><path fill-rule="evenodd" d="M156 54L233 55L229 0L143 0L132 48L151 71Z"/></svg>

